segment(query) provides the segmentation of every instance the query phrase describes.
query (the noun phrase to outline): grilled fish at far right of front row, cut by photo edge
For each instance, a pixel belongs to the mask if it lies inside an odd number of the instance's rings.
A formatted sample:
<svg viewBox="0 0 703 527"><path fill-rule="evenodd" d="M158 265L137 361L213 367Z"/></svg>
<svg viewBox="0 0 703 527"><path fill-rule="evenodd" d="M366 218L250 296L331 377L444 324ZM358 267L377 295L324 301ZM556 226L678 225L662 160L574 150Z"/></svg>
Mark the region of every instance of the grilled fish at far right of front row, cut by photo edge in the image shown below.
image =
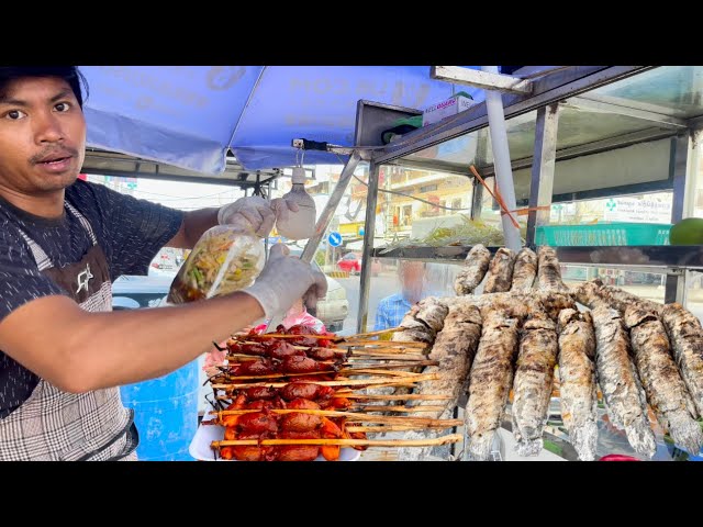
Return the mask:
<svg viewBox="0 0 703 527"><path fill-rule="evenodd" d="M679 303L663 307L663 323L673 357L700 416L703 417L703 328L701 322Z"/></svg>

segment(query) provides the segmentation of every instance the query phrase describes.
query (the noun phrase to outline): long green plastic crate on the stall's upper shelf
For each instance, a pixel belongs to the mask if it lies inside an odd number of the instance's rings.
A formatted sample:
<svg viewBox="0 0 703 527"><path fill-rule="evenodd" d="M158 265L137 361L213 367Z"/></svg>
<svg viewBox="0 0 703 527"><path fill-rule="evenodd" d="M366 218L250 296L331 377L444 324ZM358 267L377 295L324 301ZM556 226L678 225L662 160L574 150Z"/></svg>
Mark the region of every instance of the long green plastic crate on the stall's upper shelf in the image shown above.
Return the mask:
<svg viewBox="0 0 703 527"><path fill-rule="evenodd" d="M545 225L536 228L535 245L551 247L669 245L671 225L659 223L596 223Z"/></svg>

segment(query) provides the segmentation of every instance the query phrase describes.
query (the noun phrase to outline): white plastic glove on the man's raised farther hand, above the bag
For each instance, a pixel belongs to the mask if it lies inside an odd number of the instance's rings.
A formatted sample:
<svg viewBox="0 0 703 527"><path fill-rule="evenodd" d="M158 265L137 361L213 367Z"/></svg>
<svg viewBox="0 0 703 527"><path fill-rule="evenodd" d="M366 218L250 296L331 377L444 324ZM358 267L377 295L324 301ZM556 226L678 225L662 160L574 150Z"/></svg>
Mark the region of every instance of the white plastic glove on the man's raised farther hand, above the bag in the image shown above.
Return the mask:
<svg viewBox="0 0 703 527"><path fill-rule="evenodd" d="M298 205L281 198L267 201L258 195L239 198L234 203L220 208L220 225L241 225L250 228L257 236L265 238L274 228L277 220L286 221L288 212L298 212Z"/></svg>

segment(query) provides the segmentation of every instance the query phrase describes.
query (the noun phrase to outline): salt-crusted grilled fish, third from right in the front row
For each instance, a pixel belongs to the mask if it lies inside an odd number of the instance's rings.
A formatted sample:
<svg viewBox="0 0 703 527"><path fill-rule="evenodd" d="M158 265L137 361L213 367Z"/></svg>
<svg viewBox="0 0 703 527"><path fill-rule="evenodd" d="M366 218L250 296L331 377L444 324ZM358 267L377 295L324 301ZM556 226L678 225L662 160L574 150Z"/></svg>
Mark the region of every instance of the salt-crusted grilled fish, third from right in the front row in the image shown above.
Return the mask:
<svg viewBox="0 0 703 527"><path fill-rule="evenodd" d="M595 326L595 368L607 414L625 430L629 445L651 458L657 449L649 427L645 392L629 357L629 338L620 313L599 303L591 312Z"/></svg>

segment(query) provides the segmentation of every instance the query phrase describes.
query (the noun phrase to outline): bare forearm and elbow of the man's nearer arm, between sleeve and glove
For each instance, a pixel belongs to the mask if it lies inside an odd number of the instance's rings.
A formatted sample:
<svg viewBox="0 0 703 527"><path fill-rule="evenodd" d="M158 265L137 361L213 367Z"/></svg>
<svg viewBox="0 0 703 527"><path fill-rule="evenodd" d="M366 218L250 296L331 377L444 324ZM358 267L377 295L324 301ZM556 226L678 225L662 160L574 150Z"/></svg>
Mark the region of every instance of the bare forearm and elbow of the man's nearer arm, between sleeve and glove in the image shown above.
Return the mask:
<svg viewBox="0 0 703 527"><path fill-rule="evenodd" d="M169 373L263 316L246 293L114 313L88 313L49 295L0 323L0 349L59 389L81 393Z"/></svg>

